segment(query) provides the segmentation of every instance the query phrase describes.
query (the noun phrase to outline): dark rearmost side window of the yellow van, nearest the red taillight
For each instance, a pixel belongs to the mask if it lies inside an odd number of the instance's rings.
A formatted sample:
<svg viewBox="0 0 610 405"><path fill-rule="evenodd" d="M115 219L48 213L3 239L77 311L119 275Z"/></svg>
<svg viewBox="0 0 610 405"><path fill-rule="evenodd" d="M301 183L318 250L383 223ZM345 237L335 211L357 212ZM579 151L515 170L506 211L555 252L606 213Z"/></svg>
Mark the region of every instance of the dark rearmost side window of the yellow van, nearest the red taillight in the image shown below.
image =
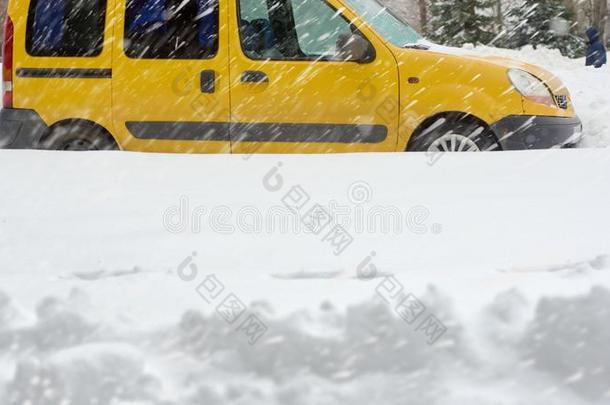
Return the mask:
<svg viewBox="0 0 610 405"><path fill-rule="evenodd" d="M106 0L32 0L26 51L32 56L97 56L105 20Z"/></svg>

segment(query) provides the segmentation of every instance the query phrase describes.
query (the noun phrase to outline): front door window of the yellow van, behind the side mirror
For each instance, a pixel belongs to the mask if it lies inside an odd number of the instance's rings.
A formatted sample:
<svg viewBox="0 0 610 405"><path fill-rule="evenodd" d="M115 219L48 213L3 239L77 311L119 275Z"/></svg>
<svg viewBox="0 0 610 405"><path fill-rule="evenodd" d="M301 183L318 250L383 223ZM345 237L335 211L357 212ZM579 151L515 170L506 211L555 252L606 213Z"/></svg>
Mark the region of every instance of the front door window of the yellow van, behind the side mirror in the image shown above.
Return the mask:
<svg viewBox="0 0 610 405"><path fill-rule="evenodd" d="M366 61L374 54L324 0L238 1L242 49L251 59Z"/></svg>

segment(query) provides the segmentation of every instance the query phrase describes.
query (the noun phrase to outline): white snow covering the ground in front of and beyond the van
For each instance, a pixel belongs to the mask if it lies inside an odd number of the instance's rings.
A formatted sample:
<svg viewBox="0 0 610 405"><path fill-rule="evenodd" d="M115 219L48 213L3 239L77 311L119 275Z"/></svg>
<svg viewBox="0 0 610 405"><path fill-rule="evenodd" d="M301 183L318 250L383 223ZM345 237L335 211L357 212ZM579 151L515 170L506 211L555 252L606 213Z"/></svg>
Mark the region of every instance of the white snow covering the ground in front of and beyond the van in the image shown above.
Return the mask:
<svg viewBox="0 0 610 405"><path fill-rule="evenodd" d="M496 52L608 146L606 69ZM0 173L0 405L610 403L608 148Z"/></svg>

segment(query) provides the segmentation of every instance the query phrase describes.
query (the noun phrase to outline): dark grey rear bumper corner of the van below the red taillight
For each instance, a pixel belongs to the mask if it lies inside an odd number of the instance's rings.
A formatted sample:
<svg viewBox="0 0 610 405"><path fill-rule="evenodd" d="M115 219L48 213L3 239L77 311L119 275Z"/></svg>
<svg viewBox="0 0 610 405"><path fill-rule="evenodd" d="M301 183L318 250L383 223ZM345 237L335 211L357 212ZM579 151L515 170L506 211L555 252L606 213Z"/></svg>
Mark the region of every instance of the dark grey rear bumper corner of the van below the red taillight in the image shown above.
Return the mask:
<svg viewBox="0 0 610 405"><path fill-rule="evenodd" d="M36 111L0 109L0 149L35 149L48 130Z"/></svg>

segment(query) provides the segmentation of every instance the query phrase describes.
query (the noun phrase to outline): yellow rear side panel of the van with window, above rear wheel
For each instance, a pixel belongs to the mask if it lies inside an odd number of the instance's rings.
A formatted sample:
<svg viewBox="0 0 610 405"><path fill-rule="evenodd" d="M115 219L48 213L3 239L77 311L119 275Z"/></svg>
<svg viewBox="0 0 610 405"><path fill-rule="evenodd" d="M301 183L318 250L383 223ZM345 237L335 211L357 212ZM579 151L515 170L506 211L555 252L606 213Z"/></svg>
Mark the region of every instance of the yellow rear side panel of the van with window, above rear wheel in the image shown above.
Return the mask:
<svg viewBox="0 0 610 405"><path fill-rule="evenodd" d="M112 4L12 0L14 107L47 125L66 119L111 127Z"/></svg>

